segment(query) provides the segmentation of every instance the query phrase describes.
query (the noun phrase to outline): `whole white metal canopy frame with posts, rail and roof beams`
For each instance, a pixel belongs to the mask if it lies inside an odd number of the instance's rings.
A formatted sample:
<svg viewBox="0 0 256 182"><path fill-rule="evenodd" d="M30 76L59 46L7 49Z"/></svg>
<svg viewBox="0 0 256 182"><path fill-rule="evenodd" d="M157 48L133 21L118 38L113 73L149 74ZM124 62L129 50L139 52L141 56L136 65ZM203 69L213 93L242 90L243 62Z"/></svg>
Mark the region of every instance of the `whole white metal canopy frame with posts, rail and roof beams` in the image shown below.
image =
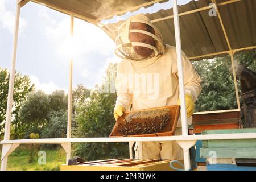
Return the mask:
<svg viewBox="0 0 256 182"><path fill-rule="evenodd" d="M31 0L32 2L40 3L38 0ZM237 97L237 106L240 111L240 102L239 102L239 95L237 89L237 82L236 82L236 73L234 72L234 58L233 55L236 51L243 51L246 49L254 49L256 46L252 47L245 47L240 49L232 49L229 43L228 35L225 31L225 26L221 19L220 11L218 10L218 6L227 5L229 3L234 3L237 1L245 1L245 0L229 0L226 2L216 4L216 0L212 0L214 3L213 6L202 7L200 9L187 11L184 13L178 13L177 9L177 0L172 0L174 7L174 15L167 16L160 19L152 20L152 22L158 22L160 20L166 20L170 18L174 18L174 25L175 25L175 40L176 40L176 52L177 52L177 63L178 63L178 74L179 74L179 89L180 89L180 98L181 98L181 123L182 123L182 135L180 136L170 136L170 137L116 137L116 138L71 138L71 109L72 109L72 72L73 72L73 60L70 60L69 64L69 92L68 92L68 129L67 129L67 138L54 138L54 139L20 139L20 140L10 140L10 126L11 126L11 109L13 103L13 92L14 92L14 78L15 78L15 67L16 67L16 50L17 50L17 42L18 42L18 29L19 29L19 18L20 18L20 8L26 5L26 3L30 2L30 0L16 0L16 15L15 15L15 31L14 31L14 43L13 43L13 55L11 58L11 69L10 69L10 81L9 81L9 91L8 91L8 99L7 99L7 109L6 109L6 123L5 123L5 137L4 140L0 142L2 144L2 163L1 163L1 170L6 170L7 167L7 158L8 155L11 154L15 150L19 144L29 144L29 143L55 143L61 144L67 154L67 161L71 155L71 142L129 142L130 147L130 158L133 158L133 153L131 151L132 143L135 141L176 141L179 145L183 148L184 152L184 167L185 170L189 170L190 167L190 160L189 160L189 148L191 148L196 140L216 140L216 139L254 139L256 138L256 133L240 133L240 134L214 134L214 135L188 135L188 126L187 126L187 111L185 109L185 93L184 93L184 81L183 81L183 65L182 65L182 55L181 55L181 42L180 42L180 28L179 28L179 16L187 15L191 13L195 13L198 11L203 11L207 9L214 8L217 11L218 19L220 20L222 31L225 35L226 43L228 44L229 50L212 53L208 55L201 55L195 57L189 57L189 59L195 59L200 57L207 57L213 55L220 55L223 53L228 53L231 56L232 62L232 69L233 69L233 78L234 78L234 85L236 88L236 97ZM144 3L141 6L133 7L126 11L136 10L140 7L144 7L150 5L152 3L160 2L160 0ZM216 5L216 6L214 6ZM48 6L49 7L49 6ZM51 9L55 9L57 11L61 11L62 13L68 14L71 16L71 36L73 35L73 20L74 17L86 20L87 22L93 23L96 26L102 28L103 25L100 23L102 18L97 19L97 21L88 19L85 16L74 14L70 11L65 11L63 9L57 9L56 7L49 7ZM123 14L124 12L118 12L117 14L109 15L105 18L110 18L115 15ZM102 28L103 29L103 28ZM109 35L111 35L110 30L104 29L104 31L109 31ZM228 111L228 110L227 110Z"/></svg>

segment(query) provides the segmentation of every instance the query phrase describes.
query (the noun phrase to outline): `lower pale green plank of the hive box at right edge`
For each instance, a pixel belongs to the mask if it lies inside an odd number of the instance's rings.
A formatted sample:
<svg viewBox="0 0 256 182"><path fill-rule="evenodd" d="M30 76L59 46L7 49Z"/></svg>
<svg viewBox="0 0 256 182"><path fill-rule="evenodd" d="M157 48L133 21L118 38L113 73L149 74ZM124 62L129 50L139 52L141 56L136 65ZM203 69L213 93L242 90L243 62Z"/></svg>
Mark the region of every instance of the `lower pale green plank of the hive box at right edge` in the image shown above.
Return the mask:
<svg viewBox="0 0 256 182"><path fill-rule="evenodd" d="M256 158L256 147L251 148L200 148L201 158Z"/></svg>

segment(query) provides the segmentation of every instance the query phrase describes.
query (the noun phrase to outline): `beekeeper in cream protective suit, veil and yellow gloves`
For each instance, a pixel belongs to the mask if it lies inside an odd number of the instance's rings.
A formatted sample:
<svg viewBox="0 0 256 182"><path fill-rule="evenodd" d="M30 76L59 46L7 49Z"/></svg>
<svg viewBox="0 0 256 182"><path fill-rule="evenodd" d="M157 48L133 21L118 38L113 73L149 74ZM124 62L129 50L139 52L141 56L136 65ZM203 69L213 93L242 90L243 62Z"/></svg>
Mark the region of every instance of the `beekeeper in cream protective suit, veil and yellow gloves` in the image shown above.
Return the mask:
<svg viewBox="0 0 256 182"><path fill-rule="evenodd" d="M176 48L163 43L158 29L144 14L121 24L115 40L115 54L123 60L117 68L115 120L128 110L179 104ZM201 91L200 76L183 53L185 101L188 125ZM181 119L175 135L181 135ZM183 150L174 141L136 142L136 159L183 160Z"/></svg>

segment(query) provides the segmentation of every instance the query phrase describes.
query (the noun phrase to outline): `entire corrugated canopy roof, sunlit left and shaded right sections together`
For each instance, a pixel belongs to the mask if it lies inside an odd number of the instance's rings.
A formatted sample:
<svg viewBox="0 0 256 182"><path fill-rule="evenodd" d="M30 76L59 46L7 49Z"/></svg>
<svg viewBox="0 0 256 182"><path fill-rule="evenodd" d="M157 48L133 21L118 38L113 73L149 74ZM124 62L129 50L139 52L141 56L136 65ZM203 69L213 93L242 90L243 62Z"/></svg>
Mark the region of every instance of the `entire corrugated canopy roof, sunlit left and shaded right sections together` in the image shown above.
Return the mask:
<svg viewBox="0 0 256 182"><path fill-rule="evenodd" d="M102 25L101 20L123 15L141 7L166 1L147 0L32 0L47 7L73 14L102 28L113 40L122 21ZM220 16L209 16L216 2ZM146 14L163 35L164 43L175 46L173 10ZM181 46L190 60L201 60L230 51L256 48L256 0L198 0L179 6ZM226 36L225 36L226 34Z"/></svg>

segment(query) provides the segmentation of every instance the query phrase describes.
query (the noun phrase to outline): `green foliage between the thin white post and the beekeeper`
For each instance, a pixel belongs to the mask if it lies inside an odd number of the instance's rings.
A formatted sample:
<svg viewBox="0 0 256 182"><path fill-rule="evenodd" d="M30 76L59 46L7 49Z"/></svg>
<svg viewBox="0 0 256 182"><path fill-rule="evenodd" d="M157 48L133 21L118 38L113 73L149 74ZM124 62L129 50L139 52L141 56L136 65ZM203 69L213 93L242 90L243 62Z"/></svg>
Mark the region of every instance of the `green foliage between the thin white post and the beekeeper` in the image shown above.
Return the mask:
<svg viewBox="0 0 256 182"><path fill-rule="evenodd" d="M107 77L115 74L117 64L110 64ZM108 79L104 79L105 81ZM109 85L104 83L104 85ZM115 93L99 93L104 86L97 86L90 99L81 103L77 109L76 122L77 137L109 137L113 129L115 119L113 110L116 100ZM97 160L107 158L122 158L129 156L128 143L76 143L75 155L82 156L85 160Z"/></svg>

